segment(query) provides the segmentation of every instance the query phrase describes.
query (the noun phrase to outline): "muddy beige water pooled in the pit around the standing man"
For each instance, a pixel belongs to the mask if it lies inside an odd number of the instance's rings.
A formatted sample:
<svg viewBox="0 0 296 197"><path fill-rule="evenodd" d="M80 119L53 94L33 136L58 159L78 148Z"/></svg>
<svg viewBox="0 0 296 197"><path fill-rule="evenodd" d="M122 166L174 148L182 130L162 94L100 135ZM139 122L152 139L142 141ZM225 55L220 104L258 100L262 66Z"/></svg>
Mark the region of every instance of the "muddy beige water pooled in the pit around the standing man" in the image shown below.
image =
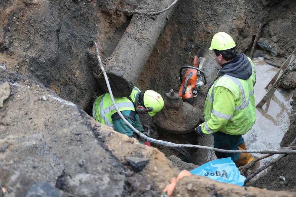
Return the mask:
<svg viewBox="0 0 296 197"><path fill-rule="evenodd" d="M253 60L256 70L256 85L255 99L256 104L260 102L266 93L265 87L270 80L275 76L278 68L266 64L263 58L255 58ZM290 124L290 113L292 101L292 91L277 89L272 95L271 99L262 107L262 109L256 108L256 122L252 129L247 134L243 135L247 149L249 150L261 150L261 149L278 149L280 147L281 139L284 133L288 130ZM199 139L199 145L213 147L212 135L207 135L204 138ZM259 157L262 154L252 153L254 157ZM260 166L264 165L272 158L278 157L274 155L260 161ZM193 163L200 165L210 160L217 159L214 151L199 149L192 155ZM265 172L254 177L253 180L258 178Z"/></svg>

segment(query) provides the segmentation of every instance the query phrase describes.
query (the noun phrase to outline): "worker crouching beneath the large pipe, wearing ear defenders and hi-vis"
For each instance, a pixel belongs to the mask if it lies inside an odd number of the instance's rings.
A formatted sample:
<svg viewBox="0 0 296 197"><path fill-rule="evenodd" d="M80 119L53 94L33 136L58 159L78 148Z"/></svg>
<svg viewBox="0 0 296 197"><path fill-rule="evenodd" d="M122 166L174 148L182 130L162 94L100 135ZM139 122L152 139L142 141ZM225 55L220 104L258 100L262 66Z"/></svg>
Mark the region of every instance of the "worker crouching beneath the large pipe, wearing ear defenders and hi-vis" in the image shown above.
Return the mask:
<svg viewBox="0 0 296 197"><path fill-rule="evenodd" d="M161 95L153 90L146 90L141 92L139 88L134 87L130 96L127 97L114 97L117 107L124 118L133 125L138 131L143 132L144 129L139 119L138 114L148 113L154 116L159 112L163 106L164 101ZM105 93L99 96L93 105L93 118L102 124L106 124L112 127L115 131L126 134L129 137L133 137L133 129L130 128L117 113L110 94ZM148 135L147 132L143 134ZM150 146L150 142L140 137L140 141L147 146Z"/></svg>

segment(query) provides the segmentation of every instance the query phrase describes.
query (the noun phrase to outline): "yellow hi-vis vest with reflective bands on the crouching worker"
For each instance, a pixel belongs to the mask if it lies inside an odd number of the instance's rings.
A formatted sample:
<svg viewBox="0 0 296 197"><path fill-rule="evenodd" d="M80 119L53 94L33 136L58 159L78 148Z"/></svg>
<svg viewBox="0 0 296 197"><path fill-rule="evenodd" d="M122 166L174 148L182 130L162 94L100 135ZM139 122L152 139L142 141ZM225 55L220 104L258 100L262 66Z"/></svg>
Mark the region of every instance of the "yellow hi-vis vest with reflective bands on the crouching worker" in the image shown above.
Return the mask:
<svg viewBox="0 0 296 197"><path fill-rule="evenodd" d="M119 111L124 110L131 110L135 111L135 98L136 94L138 92L141 92L139 88L134 87L132 90L132 93L130 94L130 98L133 102L130 101L127 97L114 97L114 100L116 102L116 105L119 109ZM93 105L93 118L96 121L99 121L100 123L107 124L109 127L112 127L114 129L114 124L112 121L111 116L116 113L116 109L112 103L111 97L109 93L105 93L101 96L99 96L95 101Z"/></svg>

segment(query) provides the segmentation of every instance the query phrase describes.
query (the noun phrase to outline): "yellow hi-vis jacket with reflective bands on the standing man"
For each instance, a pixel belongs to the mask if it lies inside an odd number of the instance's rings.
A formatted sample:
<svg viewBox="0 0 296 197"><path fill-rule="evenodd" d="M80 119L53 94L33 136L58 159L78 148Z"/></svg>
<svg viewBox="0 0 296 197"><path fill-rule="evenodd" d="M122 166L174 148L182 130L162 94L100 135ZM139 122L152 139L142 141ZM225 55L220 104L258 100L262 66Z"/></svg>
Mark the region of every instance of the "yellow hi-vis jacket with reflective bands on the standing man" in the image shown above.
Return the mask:
<svg viewBox="0 0 296 197"><path fill-rule="evenodd" d="M248 59L252 65L252 75L249 79L243 80L229 75L221 75L210 87L203 111L206 121L202 123L203 132L206 131L208 134L212 134L220 131L231 135L243 135L252 128L256 120L254 95L256 74L254 64L249 57ZM227 102L223 100L223 98L215 98L215 106L218 107L213 107L215 87L219 86L229 89L235 96L234 112L233 109L223 112L219 111L219 106L223 106L223 104L225 105L225 102ZM211 118L212 120L209 121ZM223 121L227 123L220 128L221 124L217 123L222 123Z"/></svg>

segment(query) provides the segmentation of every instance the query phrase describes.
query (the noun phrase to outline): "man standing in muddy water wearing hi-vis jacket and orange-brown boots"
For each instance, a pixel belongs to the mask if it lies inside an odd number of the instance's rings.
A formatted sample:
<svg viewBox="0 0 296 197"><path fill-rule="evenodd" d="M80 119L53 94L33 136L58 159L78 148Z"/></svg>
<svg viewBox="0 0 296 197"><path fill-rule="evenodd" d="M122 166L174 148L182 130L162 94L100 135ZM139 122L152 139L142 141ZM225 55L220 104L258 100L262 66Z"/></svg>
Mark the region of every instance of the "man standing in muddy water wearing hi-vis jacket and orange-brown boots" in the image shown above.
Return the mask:
<svg viewBox="0 0 296 197"><path fill-rule="evenodd" d="M255 66L243 53L237 53L235 42L229 34L219 32L212 38L210 50L221 66L216 78L209 85L203 115L204 123L196 129L200 137L214 136L214 147L224 150L246 150L242 135L256 120L254 85ZM231 157L239 166L254 160L250 153L221 153L220 158Z"/></svg>

